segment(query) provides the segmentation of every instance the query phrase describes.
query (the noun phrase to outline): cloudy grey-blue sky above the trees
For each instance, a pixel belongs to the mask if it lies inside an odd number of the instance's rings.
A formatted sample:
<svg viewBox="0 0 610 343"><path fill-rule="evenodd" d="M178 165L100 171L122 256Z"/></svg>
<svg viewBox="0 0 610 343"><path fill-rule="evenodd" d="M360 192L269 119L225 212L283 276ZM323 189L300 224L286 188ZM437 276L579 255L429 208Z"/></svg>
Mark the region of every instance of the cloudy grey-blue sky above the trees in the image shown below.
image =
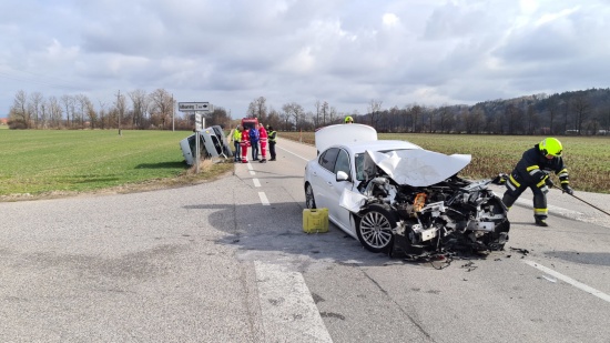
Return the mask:
<svg viewBox="0 0 610 343"><path fill-rule="evenodd" d="M241 118L610 87L608 0L2 0L0 117L19 90L165 89Z"/></svg>

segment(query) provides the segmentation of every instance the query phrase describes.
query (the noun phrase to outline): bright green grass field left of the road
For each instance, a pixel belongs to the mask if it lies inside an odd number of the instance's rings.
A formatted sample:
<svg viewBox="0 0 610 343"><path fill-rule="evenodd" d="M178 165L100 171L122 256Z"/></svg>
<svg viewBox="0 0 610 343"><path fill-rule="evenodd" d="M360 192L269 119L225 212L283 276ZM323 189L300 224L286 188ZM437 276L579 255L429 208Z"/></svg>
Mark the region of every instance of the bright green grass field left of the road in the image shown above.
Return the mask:
<svg viewBox="0 0 610 343"><path fill-rule="evenodd" d="M0 131L0 196L87 192L142 183L180 184L233 168L187 173L179 142L192 132ZM171 181L171 182L170 182Z"/></svg>

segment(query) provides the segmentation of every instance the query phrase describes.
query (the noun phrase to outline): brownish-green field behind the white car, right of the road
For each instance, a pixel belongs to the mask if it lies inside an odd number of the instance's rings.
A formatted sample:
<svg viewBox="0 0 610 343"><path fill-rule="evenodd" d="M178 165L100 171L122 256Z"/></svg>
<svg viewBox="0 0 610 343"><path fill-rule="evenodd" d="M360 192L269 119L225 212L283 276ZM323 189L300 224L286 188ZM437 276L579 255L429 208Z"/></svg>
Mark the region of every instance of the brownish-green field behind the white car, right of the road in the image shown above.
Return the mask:
<svg viewBox="0 0 610 343"><path fill-rule="evenodd" d="M313 132L279 132L278 137L314 143ZM527 149L545 137L469 135L428 133L380 133L383 140L407 140L424 149L446 154L467 153L472 162L460 173L471 179L487 179L509 173ZM558 137L563 144L563 160L576 190L610 193L610 137ZM553 176L556 184L559 184Z"/></svg>

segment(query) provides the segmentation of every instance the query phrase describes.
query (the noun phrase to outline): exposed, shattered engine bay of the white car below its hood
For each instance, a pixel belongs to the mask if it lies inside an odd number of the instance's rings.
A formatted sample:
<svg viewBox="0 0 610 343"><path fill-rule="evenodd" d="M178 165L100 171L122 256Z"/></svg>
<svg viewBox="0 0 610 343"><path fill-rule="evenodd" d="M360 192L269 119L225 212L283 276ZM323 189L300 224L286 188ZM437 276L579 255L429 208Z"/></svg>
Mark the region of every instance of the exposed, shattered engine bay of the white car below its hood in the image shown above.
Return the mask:
<svg viewBox="0 0 610 343"><path fill-rule="evenodd" d="M370 180L360 213L385 208L396 219L393 255L427 256L502 250L510 223L490 181L469 183L457 176L426 188L399 186L389 179Z"/></svg>

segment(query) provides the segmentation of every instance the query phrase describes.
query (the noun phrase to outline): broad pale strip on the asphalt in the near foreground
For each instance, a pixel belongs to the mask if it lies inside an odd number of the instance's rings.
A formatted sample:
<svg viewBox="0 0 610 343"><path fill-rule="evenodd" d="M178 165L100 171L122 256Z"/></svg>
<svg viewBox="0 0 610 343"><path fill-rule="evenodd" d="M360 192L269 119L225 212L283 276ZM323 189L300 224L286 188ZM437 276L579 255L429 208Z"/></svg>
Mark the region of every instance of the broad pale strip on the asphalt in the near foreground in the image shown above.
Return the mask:
<svg viewBox="0 0 610 343"><path fill-rule="evenodd" d="M266 342L333 342L303 275L255 261Z"/></svg>

